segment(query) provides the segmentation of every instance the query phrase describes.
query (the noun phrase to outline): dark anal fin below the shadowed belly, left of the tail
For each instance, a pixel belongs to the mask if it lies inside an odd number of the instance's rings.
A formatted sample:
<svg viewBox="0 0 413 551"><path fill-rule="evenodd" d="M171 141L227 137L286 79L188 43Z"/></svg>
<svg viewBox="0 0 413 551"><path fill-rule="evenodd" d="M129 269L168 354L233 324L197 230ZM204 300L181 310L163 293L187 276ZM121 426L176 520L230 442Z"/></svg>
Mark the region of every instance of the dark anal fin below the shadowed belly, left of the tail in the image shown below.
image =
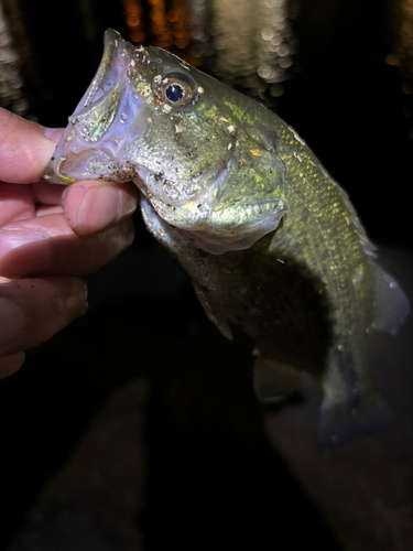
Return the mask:
<svg viewBox="0 0 413 551"><path fill-rule="evenodd" d="M253 389L257 398L265 403L276 402L296 389L301 369L274 360L254 350Z"/></svg>

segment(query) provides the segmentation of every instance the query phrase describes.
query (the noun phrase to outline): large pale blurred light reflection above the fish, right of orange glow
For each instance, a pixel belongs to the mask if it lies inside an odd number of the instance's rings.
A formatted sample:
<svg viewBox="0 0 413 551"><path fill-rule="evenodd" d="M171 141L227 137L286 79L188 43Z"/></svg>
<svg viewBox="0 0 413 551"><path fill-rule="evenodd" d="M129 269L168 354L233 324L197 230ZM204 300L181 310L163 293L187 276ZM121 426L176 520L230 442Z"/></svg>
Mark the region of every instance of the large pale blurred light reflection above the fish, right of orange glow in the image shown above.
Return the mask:
<svg viewBox="0 0 413 551"><path fill-rule="evenodd" d="M273 105L283 88L271 85L289 77L295 50L287 0L197 0L188 9L192 39L210 69Z"/></svg>

